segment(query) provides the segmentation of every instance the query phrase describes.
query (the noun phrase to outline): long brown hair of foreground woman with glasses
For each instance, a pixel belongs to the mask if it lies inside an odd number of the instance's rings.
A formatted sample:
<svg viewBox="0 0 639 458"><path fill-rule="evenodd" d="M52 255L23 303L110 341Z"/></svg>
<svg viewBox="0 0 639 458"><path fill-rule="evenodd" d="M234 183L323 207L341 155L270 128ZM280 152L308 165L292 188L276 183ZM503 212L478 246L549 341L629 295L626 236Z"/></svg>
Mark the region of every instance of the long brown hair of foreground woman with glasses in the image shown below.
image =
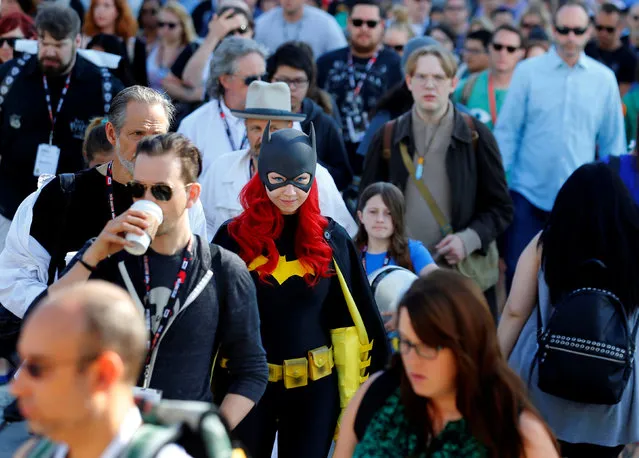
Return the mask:
<svg viewBox="0 0 639 458"><path fill-rule="evenodd" d="M402 308L423 343L449 348L455 355L457 409L473 437L488 449L488 456L522 456L519 416L527 411L543 420L501 354L493 317L480 289L455 271L438 269L413 283L398 310ZM432 420L426 414L429 399L413 391L399 355L394 365L402 367L402 404L416 431L424 433L425 448L427 438L433 437ZM548 427L546 431L553 437ZM559 450L556 443L555 447Z"/></svg>

